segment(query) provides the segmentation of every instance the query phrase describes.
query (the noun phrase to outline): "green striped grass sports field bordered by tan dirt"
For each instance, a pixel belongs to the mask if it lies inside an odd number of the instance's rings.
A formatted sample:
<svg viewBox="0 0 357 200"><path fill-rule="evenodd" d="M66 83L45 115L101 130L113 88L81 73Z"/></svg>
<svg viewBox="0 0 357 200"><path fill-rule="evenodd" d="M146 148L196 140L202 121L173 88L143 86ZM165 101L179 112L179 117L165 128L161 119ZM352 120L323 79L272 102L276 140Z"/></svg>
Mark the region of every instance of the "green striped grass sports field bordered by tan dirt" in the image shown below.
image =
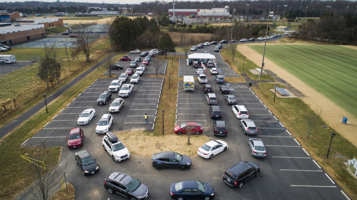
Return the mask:
<svg viewBox="0 0 357 200"><path fill-rule="evenodd" d="M250 47L263 54L263 45ZM356 49L335 45L267 45L265 55L357 117Z"/></svg>

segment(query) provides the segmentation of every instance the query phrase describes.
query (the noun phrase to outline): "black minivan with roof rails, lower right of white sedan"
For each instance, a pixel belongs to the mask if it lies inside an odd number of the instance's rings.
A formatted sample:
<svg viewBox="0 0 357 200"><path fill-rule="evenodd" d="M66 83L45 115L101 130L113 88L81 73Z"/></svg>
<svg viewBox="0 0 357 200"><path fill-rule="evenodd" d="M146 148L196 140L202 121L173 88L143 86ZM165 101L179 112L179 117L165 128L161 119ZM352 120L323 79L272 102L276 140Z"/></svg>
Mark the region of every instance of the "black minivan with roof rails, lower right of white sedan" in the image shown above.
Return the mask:
<svg viewBox="0 0 357 200"><path fill-rule="evenodd" d="M257 164L249 161L240 161L231 168L227 169L223 175L223 181L233 188L241 188L245 181L251 179L252 177L257 177L259 173L260 167Z"/></svg>

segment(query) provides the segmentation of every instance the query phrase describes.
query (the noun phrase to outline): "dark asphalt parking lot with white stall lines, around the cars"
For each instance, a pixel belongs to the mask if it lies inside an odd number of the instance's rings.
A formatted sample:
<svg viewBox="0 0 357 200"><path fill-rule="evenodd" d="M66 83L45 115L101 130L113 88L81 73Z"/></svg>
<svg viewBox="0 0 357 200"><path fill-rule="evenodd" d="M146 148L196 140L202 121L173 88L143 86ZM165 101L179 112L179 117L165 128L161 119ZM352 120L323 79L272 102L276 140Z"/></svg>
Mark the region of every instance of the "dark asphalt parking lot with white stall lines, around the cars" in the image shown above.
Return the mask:
<svg viewBox="0 0 357 200"><path fill-rule="evenodd" d="M129 62L122 63L122 65L129 65ZM218 61L217 65L229 70L229 67L223 62ZM154 67L150 63L144 75L155 74L153 69ZM166 73L165 69L162 69L160 73ZM120 74L124 70L125 68L113 70L113 74ZM195 75L195 68L188 67L186 73ZM206 103L202 84L199 84L198 81L195 81L195 91L190 93L183 91L183 83L178 81L176 124L185 121L202 123L203 133L201 135L208 136L211 140L227 142L228 149L226 152L217 154L213 159L204 159L195 154L190 157L192 167L186 171L176 169L158 171L152 167L151 157L136 154L131 154L130 159L123 162L113 162L109 154L102 149L101 139L103 135L97 135L94 131L95 123L102 114L108 113L109 107L109 105L97 105L96 99L102 91L107 90L111 80L113 79L97 79L81 94L74 97L73 101L59 115L54 117L53 121L47 123L39 133L25 143L27 147L41 145L41 142L44 142L46 146L64 147L60 165L66 168L67 181L76 188L75 199L126 199L118 194L109 194L105 190L103 181L112 172L129 174L148 185L148 200L171 199L170 184L181 180L200 180L212 184L216 191L215 199L220 200L345 199L341 193L341 188L328 177L325 171L291 136L246 83L225 83L224 85L228 86L230 94L235 96L238 104L246 106L250 114L249 119L255 121L257 125L258 134L256 136L244 135L239 126L239 119L232 112L232 106L226 104L223 100L224 95L218 91L218 87L223 84L215 83L212 76L208 78L208 83L213 86L213 92L217 95L217 105L222 109L222 120L227 122L227 137L213 136L213 120L210 119L208 114L210 105ZM124 98L125 106L121 112L112 113L114 123L110 131L117 133L120 131L152 130L155 126L155 116L160 102L163 81L163 78L146 78L143 76L139 84L134 84L134 92L129 98ZM117 95L117 93L113 93L113 98L116 98ZM97 116L89 125L78 126L76 123L78 115L87 108L94 108ZM149 115L149 124L144 122L145 113ZM84 147L70 150L66 146L66 137L70 128L74 127L81 127L84 130ZM118 136L120 138L120 134ZM185 135L177 135L177 137L187 140ZM259 138L265 142L266 158L251 156L247 144L249 138ZM125 143L125 141L123 142ZM129 146L127 148L130 150ZM79 167L75 164L74 153L84 149L87 149L99 164L100 171L98 173L83 176ZM233 189L222 181L222 175L226 169L240 160L258 164L261 173L257 178L247 181L242 188Z"/></svg>

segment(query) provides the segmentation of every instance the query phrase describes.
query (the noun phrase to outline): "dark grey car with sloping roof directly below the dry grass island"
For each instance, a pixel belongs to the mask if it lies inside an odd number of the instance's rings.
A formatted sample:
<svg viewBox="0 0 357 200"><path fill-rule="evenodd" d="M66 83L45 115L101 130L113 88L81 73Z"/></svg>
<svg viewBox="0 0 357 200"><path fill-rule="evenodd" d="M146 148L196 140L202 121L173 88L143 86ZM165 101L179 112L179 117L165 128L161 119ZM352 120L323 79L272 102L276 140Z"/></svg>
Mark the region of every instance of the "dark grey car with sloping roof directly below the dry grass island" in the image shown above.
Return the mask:
<svg viewBox="0 0 357 200"><path fill-rule="evenodd" d="M191 164L191 158L172 151L165 151L152 155L152 167L155 167L157 170L164 168L186 170L191 167Z"/></svg>

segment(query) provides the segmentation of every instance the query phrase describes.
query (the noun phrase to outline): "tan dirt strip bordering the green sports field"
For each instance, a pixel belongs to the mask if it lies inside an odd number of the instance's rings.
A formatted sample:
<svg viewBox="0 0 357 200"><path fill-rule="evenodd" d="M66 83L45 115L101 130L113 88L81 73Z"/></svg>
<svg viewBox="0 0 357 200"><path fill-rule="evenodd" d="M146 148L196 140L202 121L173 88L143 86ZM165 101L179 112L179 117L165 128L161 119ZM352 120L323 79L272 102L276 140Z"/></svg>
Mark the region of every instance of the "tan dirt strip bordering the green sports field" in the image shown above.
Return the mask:
<svg viewBox="0 0 357 200"><path fill-rule="evenodd" d="M252 62L257 64L258 66L262 62L262 55L253 49L251 49L250 45L263 45L264 43L252 43L252 44L243 44L238 45L237 49L240 51L247 59L250 59ZM290 43L287 41L276 42L274 44L306 44L305 42L295 42ZM310 44L314 45L314 44ZM346 46L349 48L355 48L355 46ZM330 99L326 98L322 94L318 93L317 90L311 88L300 79L296 78L285 69L281 68L279 65L273 63L271 60L264 58L265 69L269 69L278 77L286 80L289 84L295 87L297 90L301 91L306 97L301 98L307 105L311 107L312 110L322 110L323 115L325 116L325 122L328 126L334 128L338 133L341 133L347 140L352 142L355 146L357 146L357 134L355 130L357 128L357 119L346 112L346 110L342 109L340 106L332 102ZM342 117L347 117L348 121L351 122L350 125L346 125L342 123Z"/></svg>

